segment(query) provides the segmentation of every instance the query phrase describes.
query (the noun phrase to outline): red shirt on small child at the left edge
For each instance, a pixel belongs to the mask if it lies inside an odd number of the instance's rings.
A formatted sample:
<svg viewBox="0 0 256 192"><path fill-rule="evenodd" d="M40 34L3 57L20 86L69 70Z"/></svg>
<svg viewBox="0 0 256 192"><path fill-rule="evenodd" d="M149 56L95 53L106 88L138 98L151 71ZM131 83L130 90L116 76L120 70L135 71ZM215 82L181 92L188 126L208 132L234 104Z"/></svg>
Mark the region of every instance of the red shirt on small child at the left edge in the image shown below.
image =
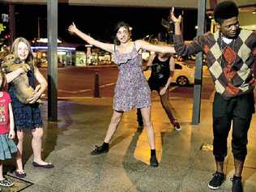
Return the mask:
<svg viewBox="0 0 256 192"><path fill-rule="evenodd" d="M10 116L9 116L10 103L11 103L11 97L9 93L0 92L0 134L9 133L9 130L10 130Z"/></svg>

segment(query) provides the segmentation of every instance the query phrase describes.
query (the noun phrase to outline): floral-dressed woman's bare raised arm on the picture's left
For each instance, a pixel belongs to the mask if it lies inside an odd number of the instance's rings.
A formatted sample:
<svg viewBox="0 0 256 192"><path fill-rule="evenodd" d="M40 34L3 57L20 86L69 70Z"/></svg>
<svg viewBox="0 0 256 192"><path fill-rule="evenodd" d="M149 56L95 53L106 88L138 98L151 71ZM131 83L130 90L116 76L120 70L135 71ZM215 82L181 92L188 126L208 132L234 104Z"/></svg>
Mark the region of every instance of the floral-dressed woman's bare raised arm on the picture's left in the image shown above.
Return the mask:
<svg viewBox="0 0 256 192"><path fill-rule="evenodd" d="M87 43L90 44L90 45L94 45L94 46L96 46L100 49L105 49L106 51L108 51L110 53L113 53L113 51L114 51L114 45L113 44L108 44L108 43L103 43L103 42L100 42L100 41L96 41L91 36L88 36L84 32L81 32L78 28L76 28L75 23L72 23L70 25L70 27L68 28L68 31L71 34L75 34L75 35L79 36L84 41L87 41Z"/></svg>

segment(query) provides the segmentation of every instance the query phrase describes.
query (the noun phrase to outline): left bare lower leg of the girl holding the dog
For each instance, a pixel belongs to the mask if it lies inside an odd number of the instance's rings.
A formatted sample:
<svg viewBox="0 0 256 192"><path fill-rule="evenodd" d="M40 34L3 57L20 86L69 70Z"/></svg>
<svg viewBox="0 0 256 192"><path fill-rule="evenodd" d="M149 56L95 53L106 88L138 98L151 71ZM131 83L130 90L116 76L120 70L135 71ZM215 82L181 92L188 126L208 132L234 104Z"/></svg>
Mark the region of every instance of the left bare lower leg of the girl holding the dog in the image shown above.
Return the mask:
<svg viewBox="0 0 256 192"><path fill-rule="evenodd" d="M22 152L23 152L23 138L24 133L23 130L17 130L17 138L18 138L18 144L17 144L17 154L16 154L16 166L17 166L17 172L23 173L23 164L22 164Z"/></svg>

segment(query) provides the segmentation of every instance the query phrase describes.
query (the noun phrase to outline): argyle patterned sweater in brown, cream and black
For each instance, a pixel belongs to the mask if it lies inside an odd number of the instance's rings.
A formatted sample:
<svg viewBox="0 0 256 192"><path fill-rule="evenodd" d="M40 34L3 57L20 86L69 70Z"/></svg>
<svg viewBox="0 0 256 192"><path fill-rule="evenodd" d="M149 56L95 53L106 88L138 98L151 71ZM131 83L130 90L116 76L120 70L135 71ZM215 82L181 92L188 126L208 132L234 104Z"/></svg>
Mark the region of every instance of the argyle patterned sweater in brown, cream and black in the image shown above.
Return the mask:
<svg viewBox="0 0 256 192"><path fill-rule="evenodd" d="M215 83L224 98L254 91L256 84L256 31L241 29L239 36L225 44L220 32L207 32L184 44L181 36L173 36L177 54L185 56L203 52Z"/></svg>

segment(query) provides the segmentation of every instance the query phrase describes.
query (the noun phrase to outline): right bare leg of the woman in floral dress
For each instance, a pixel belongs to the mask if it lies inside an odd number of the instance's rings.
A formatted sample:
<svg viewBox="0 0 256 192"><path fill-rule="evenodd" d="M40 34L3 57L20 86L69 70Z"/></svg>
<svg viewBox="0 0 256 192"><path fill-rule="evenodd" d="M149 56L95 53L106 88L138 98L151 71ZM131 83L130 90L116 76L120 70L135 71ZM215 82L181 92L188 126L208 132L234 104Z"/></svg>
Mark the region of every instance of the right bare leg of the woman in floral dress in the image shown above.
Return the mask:
<svg viewBox="0 0 256 192"><path fill-rule="evenodd" d="M147 130L147 139L151 149L156 149L155 147L155 132L151 124L151 107L140 109L143 115L144 126Z"/></svg>

